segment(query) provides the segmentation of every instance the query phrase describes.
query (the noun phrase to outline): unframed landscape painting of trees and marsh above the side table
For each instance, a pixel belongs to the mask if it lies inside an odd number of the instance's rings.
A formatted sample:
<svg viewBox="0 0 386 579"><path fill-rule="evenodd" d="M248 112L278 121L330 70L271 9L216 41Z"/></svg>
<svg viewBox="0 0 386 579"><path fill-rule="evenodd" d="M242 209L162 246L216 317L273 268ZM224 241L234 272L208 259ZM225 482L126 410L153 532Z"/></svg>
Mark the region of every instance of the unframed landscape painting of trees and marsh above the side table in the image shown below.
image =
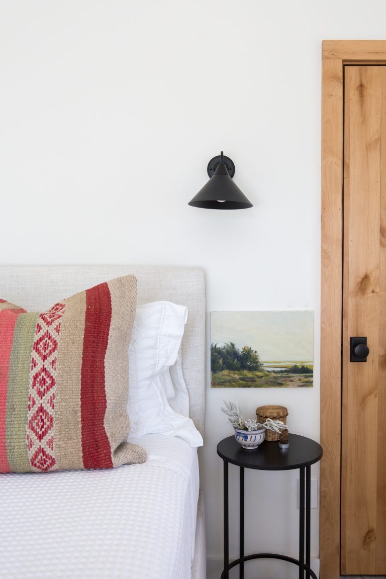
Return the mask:
<svg viewBox="0 0 386 579"><path fill-rule="evenodd" d="M314 313L212 312L212 388L309 388Z"/></svg>

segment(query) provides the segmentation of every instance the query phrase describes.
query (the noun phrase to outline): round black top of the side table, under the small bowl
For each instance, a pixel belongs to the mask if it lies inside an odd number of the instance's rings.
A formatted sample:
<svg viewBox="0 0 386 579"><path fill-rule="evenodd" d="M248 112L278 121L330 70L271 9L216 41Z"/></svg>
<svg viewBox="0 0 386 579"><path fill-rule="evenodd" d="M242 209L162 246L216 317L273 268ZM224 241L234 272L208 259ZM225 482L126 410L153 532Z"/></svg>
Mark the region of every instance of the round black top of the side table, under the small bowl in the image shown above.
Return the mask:
<svg viewBox="0 0 386 579"><path fill-rule="evenodd" d="M217 445L217 454L239 467L258 470L291 470L317 463L323 455L321 445L299 434L289 434L289 448L279 448L278 442L264 441L258 448L247 450L234 436L224 438Z"/></svg>

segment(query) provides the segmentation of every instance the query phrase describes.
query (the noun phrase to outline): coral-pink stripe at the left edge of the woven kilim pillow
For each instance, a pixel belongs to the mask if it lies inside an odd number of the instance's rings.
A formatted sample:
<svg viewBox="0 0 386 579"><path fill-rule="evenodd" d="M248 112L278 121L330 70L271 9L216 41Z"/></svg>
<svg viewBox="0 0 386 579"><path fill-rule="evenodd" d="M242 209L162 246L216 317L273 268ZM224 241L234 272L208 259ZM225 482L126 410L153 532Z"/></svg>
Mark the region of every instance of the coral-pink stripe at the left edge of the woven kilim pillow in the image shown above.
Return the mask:
<svg viewBox="0 0 386 579"><path fill-rule="evenodd" d="M2 303L5 300L1 300ZM0 312L0 472L9 472L5 440L5 419L7 412L7 384L9 360L12 350L13 332L16 320L25 310L1 310Z"/></svg>

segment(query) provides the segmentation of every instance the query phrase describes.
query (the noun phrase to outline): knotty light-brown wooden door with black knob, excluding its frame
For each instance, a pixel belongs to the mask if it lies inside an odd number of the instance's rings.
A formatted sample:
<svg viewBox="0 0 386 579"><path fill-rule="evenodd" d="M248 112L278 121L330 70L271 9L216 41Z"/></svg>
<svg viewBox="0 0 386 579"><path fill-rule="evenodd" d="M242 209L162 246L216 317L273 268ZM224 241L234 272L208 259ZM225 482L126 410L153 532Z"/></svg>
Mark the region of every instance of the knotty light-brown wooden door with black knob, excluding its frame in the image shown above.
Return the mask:
<svg viewBox="0 0 386 579"><path fill-rule="evenodd" d="M344 68L343 183L340 567L386 574L386 66Z"/></svg>

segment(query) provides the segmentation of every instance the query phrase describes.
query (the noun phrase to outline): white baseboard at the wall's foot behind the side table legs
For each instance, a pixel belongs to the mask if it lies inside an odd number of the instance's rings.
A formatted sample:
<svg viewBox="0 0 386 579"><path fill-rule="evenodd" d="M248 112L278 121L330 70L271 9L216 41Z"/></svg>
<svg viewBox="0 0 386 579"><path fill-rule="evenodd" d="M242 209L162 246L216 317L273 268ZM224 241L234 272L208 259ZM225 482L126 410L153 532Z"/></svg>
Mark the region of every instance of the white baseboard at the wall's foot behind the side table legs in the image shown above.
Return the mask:
<svg viewBox="0 0 386 579"><path fill-rule="evenodd" d="M319 557L311 557L311 569L319 579ZM207 557L207 579L220 579L222 570L222 557ZM255 559L244 563L245 579L254 579L257 573L259 579L299 579L297 565L278 559Z"/></svg>

